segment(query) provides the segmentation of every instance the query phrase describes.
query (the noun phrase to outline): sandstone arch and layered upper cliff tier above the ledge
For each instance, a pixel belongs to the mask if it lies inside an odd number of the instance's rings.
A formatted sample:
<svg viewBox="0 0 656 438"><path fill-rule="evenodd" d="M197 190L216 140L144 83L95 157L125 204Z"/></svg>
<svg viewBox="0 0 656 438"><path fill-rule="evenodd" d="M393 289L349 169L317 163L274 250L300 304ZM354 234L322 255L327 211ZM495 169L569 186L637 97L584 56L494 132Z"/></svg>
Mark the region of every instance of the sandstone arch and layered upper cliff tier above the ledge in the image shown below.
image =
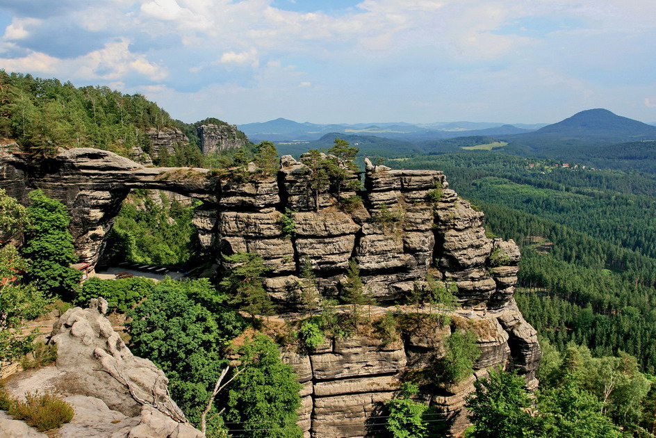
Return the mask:
<svg viewBox="0 0 656 438"><path fill-rule="evenodd" d="M464 305L500 309L511 300L517 246L487 238L483 213L461 200L442 172L368 165L361 202L346 208L343 200L356 193L338 200L334 187L313 189L307 159L283 157L277 178L254 172L248 181L233 181L206 169L145 168L99 149L69 149L38 166L3 152L0 186L21 200L29 188L42 188L69 206L81 261L97 261L129 190L152 188L202 200L194 222L208 252L219 262L220 254L259 254L268 275L278 277L269 284L288 283L308 260L322 293L336 295L353 259L379 301L411 293L432 265ZM293 232L283 231L284 220L293 222Z"/></svg>

